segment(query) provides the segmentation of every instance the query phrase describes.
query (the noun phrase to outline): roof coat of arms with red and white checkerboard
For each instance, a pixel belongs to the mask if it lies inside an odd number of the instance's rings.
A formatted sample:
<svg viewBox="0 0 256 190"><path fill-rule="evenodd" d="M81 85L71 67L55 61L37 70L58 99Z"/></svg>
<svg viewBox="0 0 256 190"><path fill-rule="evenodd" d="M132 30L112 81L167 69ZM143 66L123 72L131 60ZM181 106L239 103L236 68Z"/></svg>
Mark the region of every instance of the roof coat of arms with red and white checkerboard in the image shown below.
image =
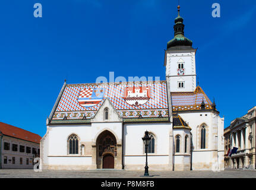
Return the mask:
<svg viewBox="0 0 256 190"><path fill-rule="evenodd" d="M84 88L78 96L78 103L84 107L92 107L103 99L105 88Z"/></svg>

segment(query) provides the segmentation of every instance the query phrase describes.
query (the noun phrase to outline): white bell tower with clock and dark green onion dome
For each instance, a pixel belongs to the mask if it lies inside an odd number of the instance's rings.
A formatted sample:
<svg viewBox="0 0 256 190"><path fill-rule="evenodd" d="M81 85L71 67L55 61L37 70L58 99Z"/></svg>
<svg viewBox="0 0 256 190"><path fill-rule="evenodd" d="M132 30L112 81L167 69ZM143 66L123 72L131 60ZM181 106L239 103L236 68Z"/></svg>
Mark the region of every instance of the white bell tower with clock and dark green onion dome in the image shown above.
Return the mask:
<svg viewBox="0 0 256 190"><path fill-rule="evenodd" d="M179 14L175 18L174 38L167 43L165 51L166 80L170 91L194 91L197 87L195 72L195 52L192 41L184 36L184 19Z"/></svg>

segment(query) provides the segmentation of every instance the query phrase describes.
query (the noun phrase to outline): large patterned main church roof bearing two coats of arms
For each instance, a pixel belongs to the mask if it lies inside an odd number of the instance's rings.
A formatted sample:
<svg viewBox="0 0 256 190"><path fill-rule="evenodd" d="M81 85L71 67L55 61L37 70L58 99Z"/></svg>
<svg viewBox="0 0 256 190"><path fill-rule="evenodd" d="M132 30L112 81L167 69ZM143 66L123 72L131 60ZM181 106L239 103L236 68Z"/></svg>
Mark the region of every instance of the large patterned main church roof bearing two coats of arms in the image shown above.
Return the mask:
<svg viewBox="0 0 256 190"><path fill-rule="evenodd" d="M166 81L67 84L50 124L89 122L107 97L126 121L169 118Z"/></svg>

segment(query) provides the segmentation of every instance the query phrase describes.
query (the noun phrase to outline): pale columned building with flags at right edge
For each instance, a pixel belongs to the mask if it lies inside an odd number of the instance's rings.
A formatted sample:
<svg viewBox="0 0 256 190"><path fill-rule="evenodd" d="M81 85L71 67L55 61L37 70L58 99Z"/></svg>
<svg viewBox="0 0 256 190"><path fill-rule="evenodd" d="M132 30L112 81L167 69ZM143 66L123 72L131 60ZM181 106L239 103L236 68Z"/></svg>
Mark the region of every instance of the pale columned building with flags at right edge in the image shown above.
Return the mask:
<svg viewBox="0 0 256 190"><path fill-rule="evenodd" d="M246 115L230 122L224 131L225 167L228 169L255 169L255 123L256 106L248 110ZM228 149L238 148L230 157Z"/></svg>

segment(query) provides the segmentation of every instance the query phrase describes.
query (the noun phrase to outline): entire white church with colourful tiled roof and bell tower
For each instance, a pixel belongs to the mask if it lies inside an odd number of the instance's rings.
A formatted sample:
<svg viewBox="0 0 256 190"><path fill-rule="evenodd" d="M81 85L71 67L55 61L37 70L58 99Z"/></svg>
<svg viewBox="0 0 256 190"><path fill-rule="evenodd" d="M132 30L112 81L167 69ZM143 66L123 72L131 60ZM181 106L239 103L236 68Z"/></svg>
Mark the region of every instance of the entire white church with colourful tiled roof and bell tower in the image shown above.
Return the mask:
<svg viewBox="0 0 256 190"><path fill-rule="evenodd" d="M42 169L143 171L148 131L150 170L224 170L224 118L197 85L197 49L179 9L165 81L65 81L40 141Z"/></svg>

